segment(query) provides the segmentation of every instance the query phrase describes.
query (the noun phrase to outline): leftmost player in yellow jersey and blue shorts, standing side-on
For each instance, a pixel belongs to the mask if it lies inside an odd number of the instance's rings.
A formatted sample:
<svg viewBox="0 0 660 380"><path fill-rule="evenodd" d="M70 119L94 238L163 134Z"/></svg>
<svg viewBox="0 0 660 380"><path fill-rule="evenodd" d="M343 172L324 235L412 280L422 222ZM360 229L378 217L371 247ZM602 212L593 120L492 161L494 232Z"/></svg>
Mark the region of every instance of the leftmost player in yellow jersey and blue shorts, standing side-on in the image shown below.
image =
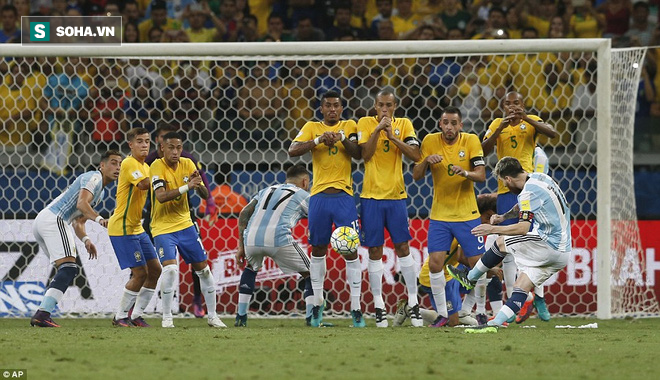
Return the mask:
<svg viewBox="0 0 660 380"><path fill-rule="evenodd" d="M160 277L156 250L142 228L142 208L149 193L149 131L133 128L126 134L131 155L121 163L117 183L117 203L108 222L108 235L121 269L131 268L112 324L120 327L149 327L142 318ZM135 304L132 318L128 312Z"/></svg>

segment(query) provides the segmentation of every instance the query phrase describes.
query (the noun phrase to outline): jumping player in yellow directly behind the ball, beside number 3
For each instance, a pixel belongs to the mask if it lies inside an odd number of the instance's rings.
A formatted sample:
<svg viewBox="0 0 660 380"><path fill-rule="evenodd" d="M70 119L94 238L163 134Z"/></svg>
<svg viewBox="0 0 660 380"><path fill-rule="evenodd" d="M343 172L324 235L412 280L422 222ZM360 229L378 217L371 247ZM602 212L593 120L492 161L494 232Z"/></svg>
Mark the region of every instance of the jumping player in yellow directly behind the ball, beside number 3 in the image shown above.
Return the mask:
<svg viewBox="0 0 660 380"><path fill-rule="evenodd" d="M309 244L312 246L310 277L314 300L311 326L318 327L323 314L323 282L325 255L332 234L332 225L350 226L359 231L357 210L353 199L351 158L360 159L357 129L353 120L341 120L341 96L326 92L321 98L323 121L309 121L303 125L289 147L289 156L312 152L313 178L309 200ZM346 282L351 289L351 310L359 313L354 325L364 325L360 306L362 268L357 253L346 259ZM307 295L306 297L311 296Z"/></svg>

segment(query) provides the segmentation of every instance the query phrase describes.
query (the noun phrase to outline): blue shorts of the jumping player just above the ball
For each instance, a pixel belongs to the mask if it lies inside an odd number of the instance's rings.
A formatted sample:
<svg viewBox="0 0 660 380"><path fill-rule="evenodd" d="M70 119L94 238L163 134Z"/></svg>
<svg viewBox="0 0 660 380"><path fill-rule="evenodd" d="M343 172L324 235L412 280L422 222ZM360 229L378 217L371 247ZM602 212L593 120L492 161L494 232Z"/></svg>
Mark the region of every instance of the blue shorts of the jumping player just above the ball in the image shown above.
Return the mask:
<svg viewBox="0 0 660 380"><path fill-rule="evenodd" d="M309 198L309 244L327 246L332 235L332 225L353 227L360 233L355 199L345 192L336 194L317 193Z"/></svg>

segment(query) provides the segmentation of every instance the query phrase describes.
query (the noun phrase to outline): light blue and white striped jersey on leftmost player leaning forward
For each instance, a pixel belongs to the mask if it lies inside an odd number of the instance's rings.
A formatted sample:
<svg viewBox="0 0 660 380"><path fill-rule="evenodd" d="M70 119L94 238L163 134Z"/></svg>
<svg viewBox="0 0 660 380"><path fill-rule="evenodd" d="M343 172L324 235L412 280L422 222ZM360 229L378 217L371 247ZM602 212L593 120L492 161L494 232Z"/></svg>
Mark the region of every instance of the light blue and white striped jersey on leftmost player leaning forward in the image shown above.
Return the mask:
<svg viewBox="0 0 660 380"><path fill-rule="evenodd" d="M78 203L78 195L83 189L92 193L91 206L98 205L105 196L103 175L101 172L94 170L81 174L62 194L53 199L46 208L50 209L65 222L71 223L73 219L82 215L82 212L78 210L76 205Z"/></svg>

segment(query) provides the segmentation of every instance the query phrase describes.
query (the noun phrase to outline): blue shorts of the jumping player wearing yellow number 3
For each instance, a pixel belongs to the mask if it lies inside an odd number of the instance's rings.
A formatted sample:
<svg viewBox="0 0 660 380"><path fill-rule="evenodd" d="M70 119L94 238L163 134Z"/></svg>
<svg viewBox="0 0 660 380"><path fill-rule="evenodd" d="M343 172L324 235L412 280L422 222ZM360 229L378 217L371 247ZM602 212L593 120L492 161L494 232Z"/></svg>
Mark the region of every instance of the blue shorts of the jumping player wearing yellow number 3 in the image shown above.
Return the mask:
<svg viewBox="0 0 660 380"><path fill-rule="evenodd" d="M380 247L385 243L385 231L392 243L410 241L408 208L405 199L383 200L360 198L362 214L362 245Z"/></svg>

